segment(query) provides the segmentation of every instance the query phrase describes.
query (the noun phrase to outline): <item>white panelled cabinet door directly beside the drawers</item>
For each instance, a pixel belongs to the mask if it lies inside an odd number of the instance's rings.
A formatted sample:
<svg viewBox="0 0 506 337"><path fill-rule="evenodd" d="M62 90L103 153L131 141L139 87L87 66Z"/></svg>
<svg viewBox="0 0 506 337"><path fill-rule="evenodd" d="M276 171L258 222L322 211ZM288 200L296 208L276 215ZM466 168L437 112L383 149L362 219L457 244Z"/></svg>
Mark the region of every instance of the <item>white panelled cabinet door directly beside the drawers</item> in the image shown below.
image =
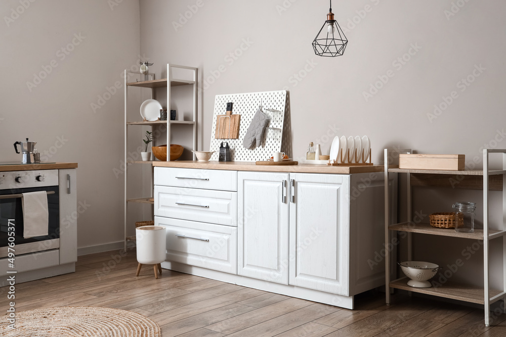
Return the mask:
<svg viewBox="0 0 506 337"><path fill-rule="evenodd" d="M238 172L239 275L288 284L288 178Z"/></svg>

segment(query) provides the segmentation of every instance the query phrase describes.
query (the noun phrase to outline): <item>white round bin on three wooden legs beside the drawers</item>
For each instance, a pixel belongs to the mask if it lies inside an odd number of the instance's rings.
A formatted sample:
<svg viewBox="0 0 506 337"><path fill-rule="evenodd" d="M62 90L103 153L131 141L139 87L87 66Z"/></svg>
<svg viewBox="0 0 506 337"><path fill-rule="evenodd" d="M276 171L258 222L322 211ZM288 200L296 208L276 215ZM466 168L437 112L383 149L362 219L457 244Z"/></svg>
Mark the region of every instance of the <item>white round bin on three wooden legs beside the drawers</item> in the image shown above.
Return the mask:
<svg viewBox="0 0 506 337"><path fill-rule="evenodd" d="M135 229L137 241L137 266L136 276L139 276L143 264L152 264L155 278L158 272L161 274L161 265L165 261L165 227L142 226Z"/></svg>

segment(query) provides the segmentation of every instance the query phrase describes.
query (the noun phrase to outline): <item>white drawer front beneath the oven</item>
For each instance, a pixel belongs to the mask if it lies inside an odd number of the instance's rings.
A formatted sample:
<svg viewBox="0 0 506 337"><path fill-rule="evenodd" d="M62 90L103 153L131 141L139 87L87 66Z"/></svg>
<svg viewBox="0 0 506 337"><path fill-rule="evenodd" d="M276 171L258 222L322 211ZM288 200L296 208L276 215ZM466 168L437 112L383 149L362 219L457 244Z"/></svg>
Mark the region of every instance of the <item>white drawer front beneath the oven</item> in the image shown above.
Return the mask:
<svg viewBox="0 0 506 337"><path fill-rule="evenodd" d="M16 247L14 247L14 249L16 249ZM14 258L15 268L9 268L8 264L8 258L0 260L0 276L15 275L7 273L7 270L16 270L20 273L22 271L57 266L60 264L60 251L56 249L53 251L16 256Z"/></svg>

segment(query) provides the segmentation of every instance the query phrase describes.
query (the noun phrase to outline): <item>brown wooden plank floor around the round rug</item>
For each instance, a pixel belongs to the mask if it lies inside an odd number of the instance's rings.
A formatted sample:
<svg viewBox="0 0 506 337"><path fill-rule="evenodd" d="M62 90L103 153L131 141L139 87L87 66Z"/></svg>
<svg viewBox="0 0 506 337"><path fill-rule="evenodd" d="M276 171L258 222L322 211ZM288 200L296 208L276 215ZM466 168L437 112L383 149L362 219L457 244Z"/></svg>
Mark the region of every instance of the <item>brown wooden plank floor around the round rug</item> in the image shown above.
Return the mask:
<svg viewBox="0 0 506 337"><path fill-rule="evenodd" d="M78 258L76 272L16 285L16 310L99 306L150 317L162 336L506 336L504 314L486 327L483 310L368 292L347 310L151 266L135 276L135 251ZM0 296L7 298L6 287ZM7 300L0 301L6 312Z"/></svg>

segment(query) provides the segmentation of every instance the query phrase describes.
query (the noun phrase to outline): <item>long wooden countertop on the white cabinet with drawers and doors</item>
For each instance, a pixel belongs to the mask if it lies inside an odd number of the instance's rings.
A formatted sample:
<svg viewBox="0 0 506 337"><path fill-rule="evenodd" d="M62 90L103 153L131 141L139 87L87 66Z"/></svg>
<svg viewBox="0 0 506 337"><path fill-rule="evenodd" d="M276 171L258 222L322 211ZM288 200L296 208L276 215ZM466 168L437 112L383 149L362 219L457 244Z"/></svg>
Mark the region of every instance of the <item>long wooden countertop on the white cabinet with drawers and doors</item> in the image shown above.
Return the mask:
<svg viewBox="0 0 506 337"><path fill-rule="evenodd" d="M328 166L317 164L299 165L256 165L255 162L197 162L197 161L173 161L153 162L157 167L180 167L198 168L205 170L232 170L232 171L265 171L265 172L293 172L293 173L331 173L352 174L383 172L383 165L372 166Z"/></svg>

